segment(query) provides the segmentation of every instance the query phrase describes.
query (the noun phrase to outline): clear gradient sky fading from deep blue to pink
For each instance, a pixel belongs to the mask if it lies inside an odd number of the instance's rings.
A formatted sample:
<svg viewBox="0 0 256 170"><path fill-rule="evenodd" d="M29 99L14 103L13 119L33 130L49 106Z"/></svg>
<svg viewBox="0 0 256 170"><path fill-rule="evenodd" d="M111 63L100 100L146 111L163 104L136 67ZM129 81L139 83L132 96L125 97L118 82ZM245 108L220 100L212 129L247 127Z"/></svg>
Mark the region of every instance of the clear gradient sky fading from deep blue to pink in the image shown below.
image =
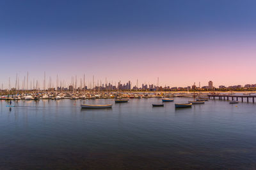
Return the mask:
<svg viewBox="0 0 256 170"><path fill-rule="evenodd" d="M256 83L256 1L0 1L0 83ZM115 83L114 83L115 84ZM56 83L55 83L56 85ZM1 89L1 87L0 87Z"/></svg>

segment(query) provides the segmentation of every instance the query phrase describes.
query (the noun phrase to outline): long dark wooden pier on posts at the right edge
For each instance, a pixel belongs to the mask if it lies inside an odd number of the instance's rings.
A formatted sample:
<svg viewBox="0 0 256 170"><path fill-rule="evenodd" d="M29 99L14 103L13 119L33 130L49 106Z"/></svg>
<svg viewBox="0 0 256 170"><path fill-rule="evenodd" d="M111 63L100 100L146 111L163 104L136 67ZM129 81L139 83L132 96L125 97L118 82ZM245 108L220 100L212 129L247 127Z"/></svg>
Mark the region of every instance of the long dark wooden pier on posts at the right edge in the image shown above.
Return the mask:
<svg viewBox="0 0 256 170"><path fill-rule="evenodd" d="M225 100L229 100L229 99L232 99L232 101L234 99L236 99L236 101L238 101L238 99L241 99L242 102L244 102L244 99L246 100L247 103L249 103L249 99L252 99L252 103L254 103L256 96L249 96L249 95L243 95L243 96L238 96L238 95L208 95L209 99L216 99L218 98L220 101L225 101Z"/></svg>

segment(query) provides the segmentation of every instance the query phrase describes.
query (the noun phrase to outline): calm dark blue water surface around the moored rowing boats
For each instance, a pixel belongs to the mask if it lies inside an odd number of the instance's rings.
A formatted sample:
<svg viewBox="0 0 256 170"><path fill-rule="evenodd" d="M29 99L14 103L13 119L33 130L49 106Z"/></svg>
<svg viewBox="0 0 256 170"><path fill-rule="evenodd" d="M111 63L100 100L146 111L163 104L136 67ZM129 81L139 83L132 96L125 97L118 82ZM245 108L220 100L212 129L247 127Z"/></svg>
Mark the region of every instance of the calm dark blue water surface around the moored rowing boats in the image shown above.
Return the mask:
<svg viewBox="0 0 256 170"><path fill-rule="evenodd" d="M175 98L175 103L188 101ZM0 169L256 169L256 104L161 99L0 101ZM237 106L237 107L236 107Z"/></svg>

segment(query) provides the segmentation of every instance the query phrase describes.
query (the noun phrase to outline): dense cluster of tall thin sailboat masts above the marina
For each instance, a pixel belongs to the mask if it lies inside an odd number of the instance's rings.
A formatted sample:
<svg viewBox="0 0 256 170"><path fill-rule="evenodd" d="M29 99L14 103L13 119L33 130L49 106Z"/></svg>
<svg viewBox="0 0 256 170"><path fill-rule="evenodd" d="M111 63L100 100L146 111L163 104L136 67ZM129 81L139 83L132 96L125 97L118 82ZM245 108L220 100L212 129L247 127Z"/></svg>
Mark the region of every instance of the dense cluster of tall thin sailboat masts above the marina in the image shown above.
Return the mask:
<svg viewBox="0 0 256 170"><path fill-rule="evenodd" d="M95 81L94 76L92 77L92 81L85 81L85 74L83 74L83 78L80 78L80 81L77 81L77 76L72 76L71 77L71 82L68 83L68 81L61 80L58 74L56 75L56 84L54 81L52 81L51 76L49 76L49 81L47 81L46 85L46 76L44 72L44 82L43 85L40 84L40 81L29 79L29 73L27 73L24 78L21 79L22 84L20 86L20 77L18 74L16 74L16 80L15 80L15 87L12 86L11 88L11 81L9 77L9 82L8 82L8 88L5 88L6 91L15 91L16 94L19 94L20 91L22 92L29 92L29 91L35 91L35 92L46 92L46 91L70 91L70 92L75 92L76 90L98 90L98 91L111 91L111 90L131 90L131 81L128 81L126 84L122 84L121 81L118 81L118 85L115 82L115 85L113 84L113 81L107 81L107 78L105 80L105 83L102 83L101 80ZM148 85L146 83L142 84L141 89L147 89L147 87L158 87L159 86L159 78L157 78L157 86L153 85L148 82ZM30 87L30 88L29 88ZM43 88L42 88L43 87ZM140 89L138 88L138 79L136 81L136 85L133 87L133 89ZM3 83L1 90L3 91Z"/></svg>

